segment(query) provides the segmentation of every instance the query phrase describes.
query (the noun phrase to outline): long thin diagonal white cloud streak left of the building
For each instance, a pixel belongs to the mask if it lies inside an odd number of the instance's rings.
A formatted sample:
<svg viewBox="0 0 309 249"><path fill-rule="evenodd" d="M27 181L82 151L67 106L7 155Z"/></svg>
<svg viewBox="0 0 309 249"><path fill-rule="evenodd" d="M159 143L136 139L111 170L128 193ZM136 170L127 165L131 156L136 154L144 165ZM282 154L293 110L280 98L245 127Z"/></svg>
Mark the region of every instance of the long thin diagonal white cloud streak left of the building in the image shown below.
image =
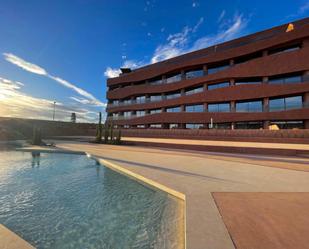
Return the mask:
<svg viewBox="0 0 309 249"><path fill-rule="evenodd" d="M38 65L35 65L35 64L28 62L28 61L25 61L24 59L14 55L14 54L11 54L11 53L3 53L3 56L4 56L6 61L26 70L28 72L45 76L49 79L56 81L57 83L61 84L62 86L71 89L72 91L76 92L77 94L88 99L92 103L92 105L105 106L104 103L102 103L100 100L95 98L91 93L85 91L84 89L82 89L82 88L80 88L80 87L60 78L60 77L53 76L53 75L49 74L44 68L42 68Z"/></svg>

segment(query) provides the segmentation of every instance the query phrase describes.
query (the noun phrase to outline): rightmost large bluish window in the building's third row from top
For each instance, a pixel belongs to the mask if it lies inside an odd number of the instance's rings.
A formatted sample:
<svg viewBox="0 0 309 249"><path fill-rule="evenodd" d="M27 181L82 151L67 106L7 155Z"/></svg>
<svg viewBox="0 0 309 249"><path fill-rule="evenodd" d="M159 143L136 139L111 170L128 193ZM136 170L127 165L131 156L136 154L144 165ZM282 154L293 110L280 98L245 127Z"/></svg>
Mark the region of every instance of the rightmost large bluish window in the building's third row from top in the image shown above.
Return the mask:
<svg viewBox="0 0 309 249"><path fill-rule="evenodd" d="M302 96L276 98L269 100L269 111L283 111L302 108Z"/></svg>

